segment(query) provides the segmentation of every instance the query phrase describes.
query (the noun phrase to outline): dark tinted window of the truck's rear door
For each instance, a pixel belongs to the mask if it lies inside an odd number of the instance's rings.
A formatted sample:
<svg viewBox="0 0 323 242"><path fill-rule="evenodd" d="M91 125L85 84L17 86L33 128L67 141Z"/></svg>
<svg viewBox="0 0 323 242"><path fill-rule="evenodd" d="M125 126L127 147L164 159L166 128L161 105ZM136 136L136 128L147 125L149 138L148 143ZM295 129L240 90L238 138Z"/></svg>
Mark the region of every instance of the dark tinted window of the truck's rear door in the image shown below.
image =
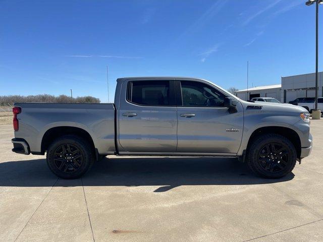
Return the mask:
<svg viewBox="0 0 323 242"><path fill-rule="evenodd" d="M173 105L169 81L134 81L129 84L127 100L140 105Z"/></svg>

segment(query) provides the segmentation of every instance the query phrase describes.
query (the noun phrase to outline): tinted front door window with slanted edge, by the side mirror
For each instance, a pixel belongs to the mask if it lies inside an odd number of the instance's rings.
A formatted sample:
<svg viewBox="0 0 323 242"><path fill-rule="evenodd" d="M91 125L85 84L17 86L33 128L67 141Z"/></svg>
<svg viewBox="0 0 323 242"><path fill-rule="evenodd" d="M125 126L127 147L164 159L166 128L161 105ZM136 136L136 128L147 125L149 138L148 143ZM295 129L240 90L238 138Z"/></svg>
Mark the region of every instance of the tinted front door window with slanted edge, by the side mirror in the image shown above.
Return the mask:
<svg viewBox="0 0 323 242"><path fill-rule="evenodd" d="M201 82L181 81L183 106L223 106L223 93Z"/></svg>

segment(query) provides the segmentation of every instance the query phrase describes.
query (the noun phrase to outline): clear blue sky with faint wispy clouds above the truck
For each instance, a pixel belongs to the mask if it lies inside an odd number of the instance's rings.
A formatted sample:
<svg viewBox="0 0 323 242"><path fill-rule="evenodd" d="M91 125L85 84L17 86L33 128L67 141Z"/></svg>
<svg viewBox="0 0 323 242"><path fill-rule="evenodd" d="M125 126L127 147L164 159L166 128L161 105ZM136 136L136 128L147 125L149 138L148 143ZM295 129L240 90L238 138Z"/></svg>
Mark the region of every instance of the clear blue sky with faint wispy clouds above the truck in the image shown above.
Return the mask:
<svg viewBox="0 0 323 242"><path fill-rule="evenodd" d="M0 1L0 95L72 88L107 102L106 65L110 101L120 77L199 77L245 89L247 61L250 86L278 84L315 71L315 7L304 3Z"/></svg>

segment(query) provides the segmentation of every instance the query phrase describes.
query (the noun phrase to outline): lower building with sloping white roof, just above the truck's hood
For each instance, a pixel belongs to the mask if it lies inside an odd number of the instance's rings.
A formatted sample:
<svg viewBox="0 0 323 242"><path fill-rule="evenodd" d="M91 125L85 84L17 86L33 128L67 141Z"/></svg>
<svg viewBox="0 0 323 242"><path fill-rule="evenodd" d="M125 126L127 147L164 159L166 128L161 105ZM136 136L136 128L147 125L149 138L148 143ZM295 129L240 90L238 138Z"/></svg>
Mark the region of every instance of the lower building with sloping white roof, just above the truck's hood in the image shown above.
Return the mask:
<svg viewBox="0 0 323 242"><path fill-rule="evenodd" d="M281 101L281 87L281 84L252 87L245 90L236 91L235 95L242 100L250 100L253 97L274 97Z"/></svg>

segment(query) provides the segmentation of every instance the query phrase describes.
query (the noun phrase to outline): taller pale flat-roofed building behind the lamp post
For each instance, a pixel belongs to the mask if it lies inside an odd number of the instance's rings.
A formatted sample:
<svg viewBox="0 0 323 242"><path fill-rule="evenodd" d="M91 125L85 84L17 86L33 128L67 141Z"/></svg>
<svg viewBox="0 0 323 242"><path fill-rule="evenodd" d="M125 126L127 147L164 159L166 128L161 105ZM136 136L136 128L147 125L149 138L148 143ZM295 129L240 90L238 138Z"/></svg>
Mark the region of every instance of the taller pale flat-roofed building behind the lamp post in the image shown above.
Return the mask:
<svg viewBox="0 0 323 242"><path fill-rule="evenodd" d="M323 72L318 73L317 96L323 96ZM293 101L298 97L315 97L315 73L282 77L282 102Z"/></svg>

